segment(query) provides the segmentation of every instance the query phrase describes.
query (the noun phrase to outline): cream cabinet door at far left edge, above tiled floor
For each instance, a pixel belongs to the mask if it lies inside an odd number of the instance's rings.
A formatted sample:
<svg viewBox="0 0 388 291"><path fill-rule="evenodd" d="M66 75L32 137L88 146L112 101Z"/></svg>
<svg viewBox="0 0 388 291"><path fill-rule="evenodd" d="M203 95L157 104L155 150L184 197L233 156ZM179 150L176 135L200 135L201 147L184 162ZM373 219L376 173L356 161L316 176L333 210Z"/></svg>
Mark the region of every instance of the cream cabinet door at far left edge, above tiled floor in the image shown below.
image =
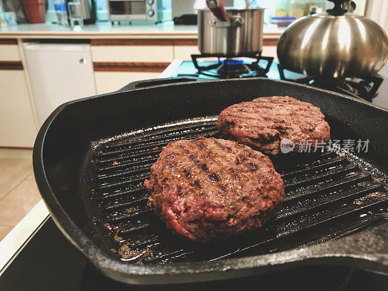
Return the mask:
<svg viewBox="0 0 388 291"><path fill-rule="evenodd" d="M37 130L22 70L0 70L0 146L32 147Z"/></svg>

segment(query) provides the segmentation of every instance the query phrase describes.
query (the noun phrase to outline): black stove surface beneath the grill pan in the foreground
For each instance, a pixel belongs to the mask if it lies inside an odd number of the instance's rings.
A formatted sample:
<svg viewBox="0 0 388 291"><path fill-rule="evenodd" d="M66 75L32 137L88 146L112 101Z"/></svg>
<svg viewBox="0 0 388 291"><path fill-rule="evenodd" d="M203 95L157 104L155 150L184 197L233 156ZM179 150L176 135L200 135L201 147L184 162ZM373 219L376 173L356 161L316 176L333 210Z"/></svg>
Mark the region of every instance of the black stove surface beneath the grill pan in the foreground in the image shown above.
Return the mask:
<svg viewBox="0 0 388 291"><path fill-rule="evenodd" d="M295 272L306 279L293 280ZM282 278L282 280L278 280ZM388 277L339 266L307 266L272 275L247 277L223 282L202 282L174 286L131 286L101 275L64 237L51 218L0 274L1 291L175 291L222 288L225 291L257 286L273 291L385 291Z"/></svg>

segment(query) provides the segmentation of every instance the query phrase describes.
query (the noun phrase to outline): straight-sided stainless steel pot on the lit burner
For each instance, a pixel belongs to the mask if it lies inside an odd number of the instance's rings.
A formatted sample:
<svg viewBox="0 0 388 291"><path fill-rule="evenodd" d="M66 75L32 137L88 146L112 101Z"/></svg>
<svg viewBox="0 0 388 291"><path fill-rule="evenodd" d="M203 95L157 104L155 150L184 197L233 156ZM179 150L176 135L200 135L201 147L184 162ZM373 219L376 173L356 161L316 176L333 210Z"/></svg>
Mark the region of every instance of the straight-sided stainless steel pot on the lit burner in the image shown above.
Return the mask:
<svg viewBox="0 0 388 291"><path fill-rule="evenodd" d="M201 53L240 55L261 53L264 8L226 8L227 21L209 9L198 10L198 49Z"/></svg>

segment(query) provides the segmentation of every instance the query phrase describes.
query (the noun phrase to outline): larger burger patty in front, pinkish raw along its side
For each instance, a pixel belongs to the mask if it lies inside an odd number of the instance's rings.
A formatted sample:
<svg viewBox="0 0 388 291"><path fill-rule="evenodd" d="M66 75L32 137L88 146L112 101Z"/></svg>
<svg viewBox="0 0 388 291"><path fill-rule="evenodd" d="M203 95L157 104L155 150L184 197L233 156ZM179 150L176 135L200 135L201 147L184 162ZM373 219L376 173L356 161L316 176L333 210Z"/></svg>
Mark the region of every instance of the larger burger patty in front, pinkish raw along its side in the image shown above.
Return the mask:
<svg viewBox="0 0 388 291"><path fill-rule="evenodd" d="M144 186L167 227L205 243L260 227L284 201L283 180L268 157L202 136L163 147Z"/></svg>

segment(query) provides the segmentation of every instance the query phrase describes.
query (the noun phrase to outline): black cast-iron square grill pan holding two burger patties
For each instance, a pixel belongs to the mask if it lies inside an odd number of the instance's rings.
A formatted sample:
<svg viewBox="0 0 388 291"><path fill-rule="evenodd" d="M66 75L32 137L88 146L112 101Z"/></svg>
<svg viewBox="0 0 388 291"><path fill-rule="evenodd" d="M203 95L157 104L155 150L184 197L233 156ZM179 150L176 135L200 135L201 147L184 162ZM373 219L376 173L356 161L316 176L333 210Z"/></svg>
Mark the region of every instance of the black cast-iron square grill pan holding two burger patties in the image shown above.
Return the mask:
<svg viewBox="0 0 388 291"><path fill-rule="evenodd" d="M221 110L274 95L320 107L332 139L369 139L369 151L274 158L286 201L265 226L210 245L173 235L146 206L142 187L162 146L221 137ZM198 282L313 264L388 274L387 132L387 110L306 85L168 78L63 104L40 129L33 163L57 226L121 282Z"/></svg>

